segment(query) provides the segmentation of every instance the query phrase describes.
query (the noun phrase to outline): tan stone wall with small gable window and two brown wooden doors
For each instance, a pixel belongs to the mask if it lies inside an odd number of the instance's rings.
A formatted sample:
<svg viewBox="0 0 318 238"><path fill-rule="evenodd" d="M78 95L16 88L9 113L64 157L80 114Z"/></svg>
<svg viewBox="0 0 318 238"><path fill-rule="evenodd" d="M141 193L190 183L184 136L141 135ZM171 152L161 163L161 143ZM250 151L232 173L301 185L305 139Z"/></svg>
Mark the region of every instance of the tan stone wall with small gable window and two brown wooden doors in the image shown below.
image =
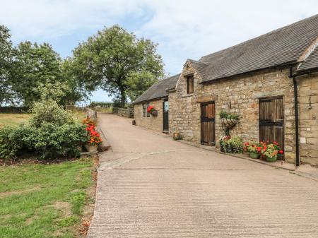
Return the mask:
<svg viewBox="0 0 318 238"><path fill-rule="evenodd" d="M194 74L194 93L187 94L186 76ZM221 110L239 114L240 122L230 131L247 141L259 138L259 98L283 96L285 124L285 160L295 162L295 114L293 81L289 69L271 69L200 84L201 77L188 61L177 82L174 93L169 94L170 131L178 131L187 141L201 142L200 102L216 103L216 141L223 135L218 114Z"/></svg>

